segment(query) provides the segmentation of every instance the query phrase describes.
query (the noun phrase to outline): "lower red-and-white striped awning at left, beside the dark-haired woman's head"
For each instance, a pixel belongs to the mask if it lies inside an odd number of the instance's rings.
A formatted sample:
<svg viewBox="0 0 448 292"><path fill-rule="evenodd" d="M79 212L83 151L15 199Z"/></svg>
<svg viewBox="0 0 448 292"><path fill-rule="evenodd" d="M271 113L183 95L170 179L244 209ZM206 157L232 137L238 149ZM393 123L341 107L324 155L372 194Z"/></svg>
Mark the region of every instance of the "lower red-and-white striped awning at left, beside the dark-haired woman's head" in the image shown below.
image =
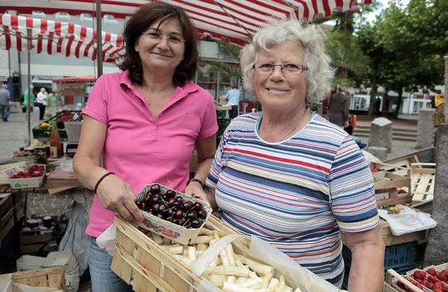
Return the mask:
<svg viewBox="0 0 448 292"><path fill-rule="evenodd" d="M20 15L0 17L0 48L2 50L31 50L36 53L63 54L97 59L97 31L69 22L42 20ZM102 55L106 62L115 62L125 53L123 38L102 32Z"/></svg>

